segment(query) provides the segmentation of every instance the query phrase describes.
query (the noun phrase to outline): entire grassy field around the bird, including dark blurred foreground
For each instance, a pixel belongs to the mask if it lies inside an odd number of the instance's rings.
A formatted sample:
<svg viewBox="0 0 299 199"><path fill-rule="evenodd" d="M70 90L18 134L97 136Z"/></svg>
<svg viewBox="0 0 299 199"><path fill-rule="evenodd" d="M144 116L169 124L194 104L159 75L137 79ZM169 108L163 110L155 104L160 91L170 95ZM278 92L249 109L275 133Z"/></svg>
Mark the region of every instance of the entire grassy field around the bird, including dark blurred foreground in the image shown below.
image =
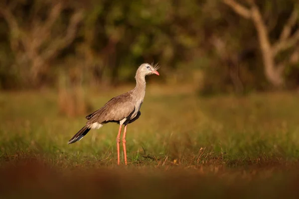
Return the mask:
<svg viewBox="0 0 299 199"><path fill-rule="evenodd" d="M90 100L97 109L127 90ZM128 125L129 165L117 166L117 124L67 145L85 115L59 114L55 92L0 93L0 196L299 197L298 93L200 98L149 87L141 112Z"/></svg>

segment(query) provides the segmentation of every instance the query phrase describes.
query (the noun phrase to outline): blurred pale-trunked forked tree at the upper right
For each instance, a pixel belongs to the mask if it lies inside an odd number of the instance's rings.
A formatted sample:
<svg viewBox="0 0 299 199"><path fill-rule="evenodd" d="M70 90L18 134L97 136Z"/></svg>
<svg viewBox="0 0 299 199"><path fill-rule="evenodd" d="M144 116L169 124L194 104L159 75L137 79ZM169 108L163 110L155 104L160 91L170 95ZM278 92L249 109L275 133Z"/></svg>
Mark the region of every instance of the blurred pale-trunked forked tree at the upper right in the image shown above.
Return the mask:
<svg viewBox="0 0 299 199"><path fill-rule="evenodd" d="M294 1L293 11L289 16L289 19L285 22L279 38L275 42L271 41L270 30L267 27L261 10L255 0L246 0L249 7L240 4L236 0L223 0L223 2L229 5L239 15L253 21L258 33L265 76L275 87L282 87L285 83L284 72L286 65L290 62L298 62L298 58L295 60L295 57L298 57L299 53L299 26L296 25L299 23L298 1ZM288 56L291 59L286 58L281 61L276 60L276 57L278 57L280 53L287 50L293 51L290 52L290 56Z"/></svg>

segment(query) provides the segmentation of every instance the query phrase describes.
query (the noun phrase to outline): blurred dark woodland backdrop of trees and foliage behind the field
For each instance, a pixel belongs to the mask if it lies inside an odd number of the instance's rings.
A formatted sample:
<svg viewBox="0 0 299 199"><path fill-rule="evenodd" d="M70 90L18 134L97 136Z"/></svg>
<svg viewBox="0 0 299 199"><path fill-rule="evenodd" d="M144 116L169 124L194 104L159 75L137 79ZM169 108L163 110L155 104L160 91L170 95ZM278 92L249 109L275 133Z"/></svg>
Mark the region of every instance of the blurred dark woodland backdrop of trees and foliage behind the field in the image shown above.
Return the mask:
<svg viewBox="0 0 299 199"><path fill-rule="evenodd" d="M202 95L299 87L297 0L1 0L0 89L111 87L159 63Z"/></svg>

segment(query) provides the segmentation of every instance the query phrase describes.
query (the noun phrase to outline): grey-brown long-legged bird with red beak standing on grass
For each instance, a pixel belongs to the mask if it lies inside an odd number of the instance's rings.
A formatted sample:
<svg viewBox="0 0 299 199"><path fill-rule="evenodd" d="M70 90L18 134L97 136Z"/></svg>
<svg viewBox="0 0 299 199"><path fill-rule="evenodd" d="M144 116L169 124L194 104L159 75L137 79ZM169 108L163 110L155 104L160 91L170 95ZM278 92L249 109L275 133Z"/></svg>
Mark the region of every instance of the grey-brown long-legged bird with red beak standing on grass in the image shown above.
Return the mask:
<svg viewBox="0 0 299 199"><path fill-rule="evenodd" d="M112 98L105 103L100 109L86 116L88 120L86 125L83 126L78 133L76 133L69 141L68 144L75 143L81 140L91 129L99 129L104 124L109 122L118 123L119 131L116 138L117 144L117 164L120 165L120 142L121 131L124 125L123 133L123 150L125 156L125 165L127 165L127 151L126 151L126 133L127 125L136 121L141 115L141 105L146 95L146 76L158 75L158 64L141 64L135 75L136 87L131 91Z"/></svg>

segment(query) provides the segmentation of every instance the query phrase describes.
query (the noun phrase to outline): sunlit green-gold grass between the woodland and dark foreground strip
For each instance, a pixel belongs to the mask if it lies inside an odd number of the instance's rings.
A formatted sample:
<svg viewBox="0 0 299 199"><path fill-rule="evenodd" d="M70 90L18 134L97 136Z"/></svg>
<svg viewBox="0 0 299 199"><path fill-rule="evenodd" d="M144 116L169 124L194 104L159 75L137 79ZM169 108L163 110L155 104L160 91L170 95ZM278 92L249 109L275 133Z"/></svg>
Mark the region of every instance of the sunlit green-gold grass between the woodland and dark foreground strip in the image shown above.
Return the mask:
<svg viewBox="0 0 299 199"><path fill-rule="evenodd" d="M113 94L94 95L94 108ZM54 93L2 93L0 156L36 155L54 165L113 166L118 126L106 124L81 141L67 141L85 115L66 117ZM299 96L288 93L200 98L148 92L142 116L128 126L130 165L244 166L299 157ZM166 160L166 161L165 161Z"/></svg>

